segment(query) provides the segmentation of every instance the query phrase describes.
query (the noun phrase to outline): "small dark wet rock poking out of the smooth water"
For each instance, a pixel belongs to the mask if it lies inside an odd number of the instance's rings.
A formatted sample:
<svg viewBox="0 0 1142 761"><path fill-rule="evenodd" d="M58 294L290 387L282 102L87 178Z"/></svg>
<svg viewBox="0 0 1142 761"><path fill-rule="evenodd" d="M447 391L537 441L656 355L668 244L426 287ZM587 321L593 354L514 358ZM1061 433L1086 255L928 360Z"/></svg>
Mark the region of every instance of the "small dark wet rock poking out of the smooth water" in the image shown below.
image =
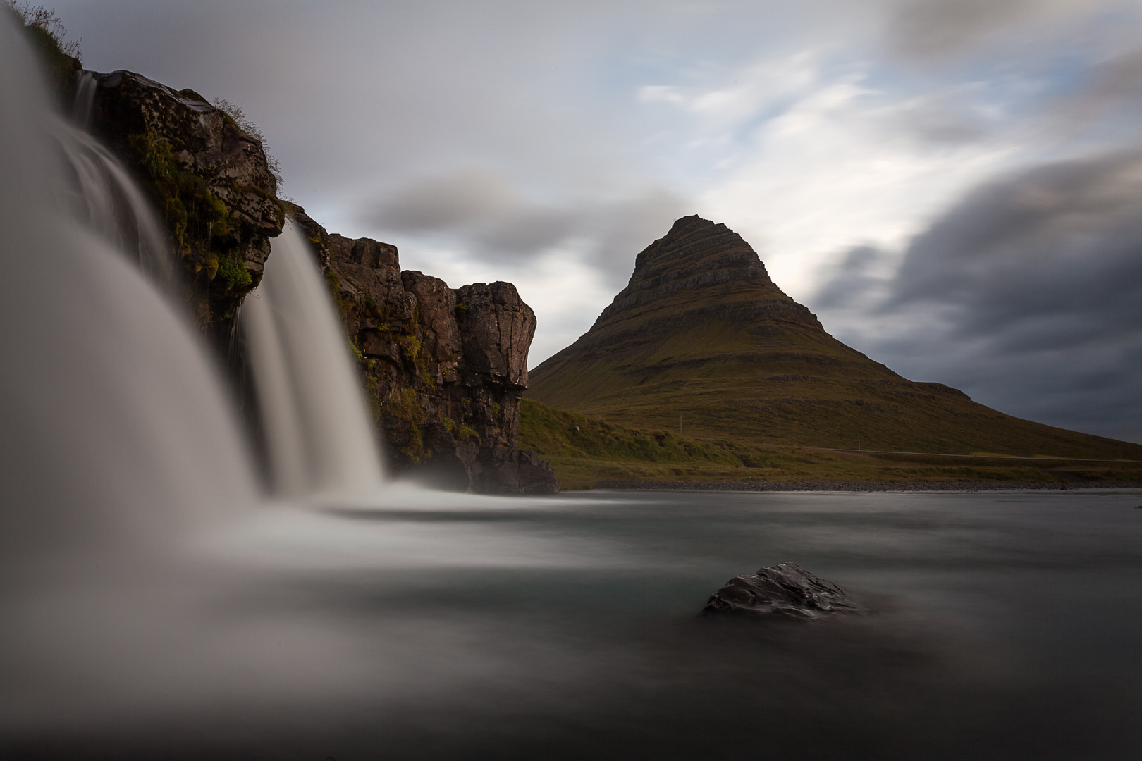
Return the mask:
<svg viewBox="0 0 1142 761"><path fill-rule="evenodd" d="M703 615L774 615L820 618L833 613L866 613L833 582L819 578L793 562L734 576L710 596Z"/></svg>

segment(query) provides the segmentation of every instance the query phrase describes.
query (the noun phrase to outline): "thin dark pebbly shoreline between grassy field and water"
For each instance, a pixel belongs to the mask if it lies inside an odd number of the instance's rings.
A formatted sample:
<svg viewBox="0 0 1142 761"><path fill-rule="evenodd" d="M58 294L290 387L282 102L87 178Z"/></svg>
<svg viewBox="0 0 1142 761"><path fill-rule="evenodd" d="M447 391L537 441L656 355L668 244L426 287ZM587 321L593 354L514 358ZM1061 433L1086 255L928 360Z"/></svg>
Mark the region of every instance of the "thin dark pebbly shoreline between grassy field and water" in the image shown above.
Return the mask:
<svg viewBox="0 0 1142 761"><path fill-rule="evenodd" d="M638 481L597 480L590 491L691 492L1016 492L1142 488L1142 481Z"/></svg>

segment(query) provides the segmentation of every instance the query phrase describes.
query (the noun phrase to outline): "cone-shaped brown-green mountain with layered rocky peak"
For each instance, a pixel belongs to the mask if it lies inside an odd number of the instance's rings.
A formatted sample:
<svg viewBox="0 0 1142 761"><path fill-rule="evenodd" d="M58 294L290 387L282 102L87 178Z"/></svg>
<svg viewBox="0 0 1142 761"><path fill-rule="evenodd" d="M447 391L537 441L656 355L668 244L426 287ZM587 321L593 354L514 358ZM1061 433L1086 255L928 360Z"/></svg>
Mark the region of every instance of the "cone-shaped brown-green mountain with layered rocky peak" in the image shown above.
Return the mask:
<svg viewBox="0 0 1142 761"><path fill-rule="evenodd" d="M1142 460L1142 445L1021 420L845 346L725 225L677 220L526 397L754 446Z"/></svg>

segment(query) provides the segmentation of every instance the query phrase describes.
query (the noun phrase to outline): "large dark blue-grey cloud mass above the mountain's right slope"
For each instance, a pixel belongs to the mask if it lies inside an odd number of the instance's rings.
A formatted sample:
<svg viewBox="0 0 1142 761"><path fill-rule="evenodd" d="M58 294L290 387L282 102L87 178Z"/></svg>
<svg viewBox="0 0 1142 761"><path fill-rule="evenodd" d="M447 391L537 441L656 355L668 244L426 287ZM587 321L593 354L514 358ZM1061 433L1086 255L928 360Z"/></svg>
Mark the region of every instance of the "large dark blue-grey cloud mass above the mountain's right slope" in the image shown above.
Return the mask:
<svg viewBox="0 0 1142 761"><path fill-rule="evenodd" d="M850 250L812 306L838 338L907 377L1142 442L1142 151L983 184L902 257Z"/></svg>

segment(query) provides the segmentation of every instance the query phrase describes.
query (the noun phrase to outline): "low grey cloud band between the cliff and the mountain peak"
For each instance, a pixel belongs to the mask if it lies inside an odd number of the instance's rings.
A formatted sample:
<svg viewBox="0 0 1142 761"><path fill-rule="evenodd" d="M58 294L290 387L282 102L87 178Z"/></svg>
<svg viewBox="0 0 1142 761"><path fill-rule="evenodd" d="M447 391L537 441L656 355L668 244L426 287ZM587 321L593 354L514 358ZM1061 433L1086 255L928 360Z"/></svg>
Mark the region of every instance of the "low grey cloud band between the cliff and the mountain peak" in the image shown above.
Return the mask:
<svg viewBox="0 0 1142 761"><path fill-rule="evenodd" d="M463 170L397 188L365 221L436 238L485 261L518 261L572 244L614 280L629 275L635 254L685 213L684 201L662 188L610 201L546 204L500 175Z"/></svg>

